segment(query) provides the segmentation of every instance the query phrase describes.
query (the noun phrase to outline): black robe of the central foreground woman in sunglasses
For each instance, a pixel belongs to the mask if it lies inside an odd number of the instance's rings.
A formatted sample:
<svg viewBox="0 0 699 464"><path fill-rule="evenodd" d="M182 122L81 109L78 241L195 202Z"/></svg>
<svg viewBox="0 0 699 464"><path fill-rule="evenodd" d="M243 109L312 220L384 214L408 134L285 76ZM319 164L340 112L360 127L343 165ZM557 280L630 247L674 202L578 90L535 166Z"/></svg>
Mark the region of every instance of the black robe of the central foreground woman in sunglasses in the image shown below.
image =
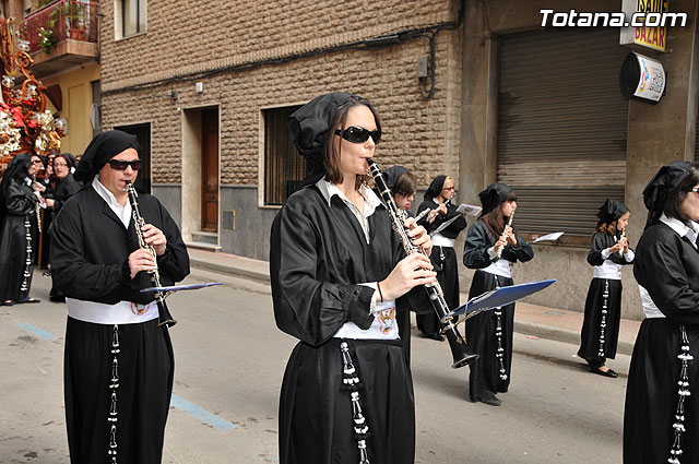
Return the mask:
<svg viewBox="0 0 699 464"><path fill-rule="evenodd" d="M356 464L352 400L342 389L345 322L371 326L374 289L404 255L380 205L368 217L370 242L347 205L330 205L316 186L289 197L271 231L270 276L277 326L299 340L280 395L282 464ZM423 290L424 289L419 289ZM406 305L399 298L396 305ZM399 330L400 334L400 330ZM414 461L415 412L410 367L400 341L346 340L358 377L372 464Z"/></svg>

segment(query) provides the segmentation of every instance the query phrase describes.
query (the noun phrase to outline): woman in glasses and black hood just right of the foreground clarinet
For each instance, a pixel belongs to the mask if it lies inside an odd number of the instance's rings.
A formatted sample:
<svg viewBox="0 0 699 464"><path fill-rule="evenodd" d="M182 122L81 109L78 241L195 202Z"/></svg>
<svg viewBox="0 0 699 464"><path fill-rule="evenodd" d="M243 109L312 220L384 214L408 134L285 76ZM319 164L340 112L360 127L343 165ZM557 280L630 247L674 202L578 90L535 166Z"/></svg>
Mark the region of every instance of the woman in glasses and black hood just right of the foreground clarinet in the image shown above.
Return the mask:
<svg viewBox="0 0 699 464"><path fill-rule="evenodd" d="M417 214L429 210L418 224L424 225L431 236L433 266L437 271L437 279L445 293L445 299L450 309L459 307L459 269L454 241L461 230L466 228L466 219L451 204L454 194L454 180L449 176L437 176L425 192L424 201L417 209ZM437 231L445 223L447 227ZM428 338L443 341L441 324L431 305L427 301L418 308L417 329Z"/></svg>

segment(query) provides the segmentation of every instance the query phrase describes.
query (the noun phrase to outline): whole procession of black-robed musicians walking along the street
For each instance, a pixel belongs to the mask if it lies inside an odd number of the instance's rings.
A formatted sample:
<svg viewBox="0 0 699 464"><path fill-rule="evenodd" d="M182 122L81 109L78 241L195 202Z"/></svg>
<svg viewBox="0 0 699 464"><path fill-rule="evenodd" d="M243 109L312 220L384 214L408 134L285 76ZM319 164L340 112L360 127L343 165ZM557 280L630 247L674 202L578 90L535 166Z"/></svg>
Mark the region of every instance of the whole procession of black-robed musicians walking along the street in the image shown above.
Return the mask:
<svg viewBox="0 0 699 464"><path fill-rule="evenodd" d="M513 285L514 264L534 258L512 225L517 193L501 182L487 186L467 227L452 203L454 178L439 175L414 214L417 179L405 167L382 174L388 200L369 188L381 120L367 99L321 95L288 126L308 176L270 237L274 317L298 338L281 389L280 462L412 463L411 311L423 336L443 341L443 319L423 287L438 286L449 308L459 306L455 243L466 228L469 297ZM137 203L128 193L141 159L133 135L106 131L80 164L66 153L20 153L0 181L0 304L38 301L29 295L35 265L50 266L50 297L67 302L72 463L162 459L175 359L159 301L140 290L153 285L154 273L164 285L185 278L189 257L159 201L143 193ZM614 199L600 206L591 236L578 352L591 372L617 377L606 360L616 355L625 265L633 265L645 314L626 395L629 464L699 459L699 400L690 394L699 384L698 168L673 162L651 179L636 250L625 235L631 213ZM467 397L499 406L511 379L514 304L490 309L465 321L478 355L470 358Z"/></svg>

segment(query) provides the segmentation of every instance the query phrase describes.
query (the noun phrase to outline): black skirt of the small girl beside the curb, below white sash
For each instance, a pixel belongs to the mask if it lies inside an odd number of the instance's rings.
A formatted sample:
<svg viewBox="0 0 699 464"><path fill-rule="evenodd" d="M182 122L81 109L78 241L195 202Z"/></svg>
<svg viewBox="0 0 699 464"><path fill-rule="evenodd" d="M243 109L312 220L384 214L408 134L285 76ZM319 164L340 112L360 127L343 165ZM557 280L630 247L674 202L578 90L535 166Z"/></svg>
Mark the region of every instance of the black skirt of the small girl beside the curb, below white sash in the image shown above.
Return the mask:
<svg viewBox="0 0 699 464"><path fill-rule="evenodd" d="M605 310L607 312L603 313ZM621 281L593 278L585 299L578 356L588 360L614 359L619 340L620 318Z"/></svg>

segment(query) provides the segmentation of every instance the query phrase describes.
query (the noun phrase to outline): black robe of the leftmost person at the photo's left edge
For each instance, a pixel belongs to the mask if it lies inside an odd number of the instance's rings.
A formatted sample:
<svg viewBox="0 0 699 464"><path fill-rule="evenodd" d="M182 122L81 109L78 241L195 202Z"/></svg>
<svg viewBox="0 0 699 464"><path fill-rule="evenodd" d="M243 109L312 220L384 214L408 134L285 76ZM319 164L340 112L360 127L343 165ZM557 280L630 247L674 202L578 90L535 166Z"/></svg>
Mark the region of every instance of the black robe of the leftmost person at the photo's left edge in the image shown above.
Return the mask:
<svg viewBox="0 0 699 464"><path fill-rule="evenodd" d="M4 202L0 224L0 302L22 301L29 297L32 286L38 199L32 187L11 180Z"/></svg>

